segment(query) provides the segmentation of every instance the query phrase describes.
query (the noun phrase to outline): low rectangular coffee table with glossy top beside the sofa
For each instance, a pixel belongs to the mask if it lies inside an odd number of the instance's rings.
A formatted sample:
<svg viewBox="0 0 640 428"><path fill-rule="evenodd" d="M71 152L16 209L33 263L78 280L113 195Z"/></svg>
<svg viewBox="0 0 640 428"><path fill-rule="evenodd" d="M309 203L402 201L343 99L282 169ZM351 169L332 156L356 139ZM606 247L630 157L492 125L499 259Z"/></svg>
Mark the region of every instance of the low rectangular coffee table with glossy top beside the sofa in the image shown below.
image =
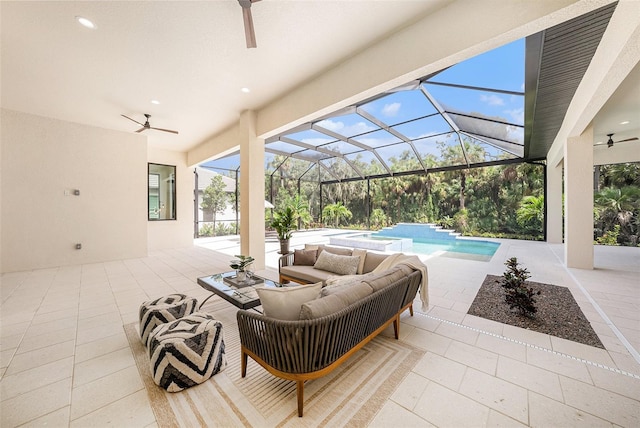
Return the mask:
<svg viewBox="0 0 640 428"><path fill-rule="evenodd" d="M235 286L228 282L225 282L224 278L230 278L235 276L235 272L217 273L214 275L203 276L198 278L198 285L213 294L200 304L202 307L207 300L213 296L220 296L227 302L237 306L240 309L252 309L256 306L260 306L260 298L256 292L257 288L262 287L287 287L287 285L280 284L279 282L272 281L267 278L263 278L258 275L253 275L253 278L261 280L261 282L244 286ZM258 311L259 312L259 311Z"/></svg>

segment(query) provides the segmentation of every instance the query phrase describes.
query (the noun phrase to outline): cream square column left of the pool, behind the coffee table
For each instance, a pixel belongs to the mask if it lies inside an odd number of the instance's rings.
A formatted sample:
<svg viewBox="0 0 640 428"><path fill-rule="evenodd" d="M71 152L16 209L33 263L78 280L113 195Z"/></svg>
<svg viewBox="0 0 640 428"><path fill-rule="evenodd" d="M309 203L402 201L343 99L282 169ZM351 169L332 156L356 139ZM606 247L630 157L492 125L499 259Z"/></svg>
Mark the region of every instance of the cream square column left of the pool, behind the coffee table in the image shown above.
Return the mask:
<svg viewBox="0 0 640 428"><path fill-rule="evenodd" d="M240 252L265 268L264 140L256 136L256 114L240 114Z"/></svg>

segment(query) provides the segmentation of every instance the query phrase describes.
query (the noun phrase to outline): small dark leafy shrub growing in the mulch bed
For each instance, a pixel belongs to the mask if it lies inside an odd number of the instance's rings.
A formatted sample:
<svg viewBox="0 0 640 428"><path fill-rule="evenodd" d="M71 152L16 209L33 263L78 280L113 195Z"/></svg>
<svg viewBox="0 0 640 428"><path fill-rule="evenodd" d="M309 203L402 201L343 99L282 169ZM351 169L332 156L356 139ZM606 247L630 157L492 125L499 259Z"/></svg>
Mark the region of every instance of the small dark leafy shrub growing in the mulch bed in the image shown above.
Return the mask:
<svg viewBox="0 0 640 428"><path fill-rule="evenodd" d="M506 293L504 300L510 309L515 308L521 315L533 318L537 312L536 299L533 296L539 295L540 291L526 287L526 281L531 275L526 268L520 267L517 257L511 257L504 264L507 270L502 274L500 281Z"/></svg>

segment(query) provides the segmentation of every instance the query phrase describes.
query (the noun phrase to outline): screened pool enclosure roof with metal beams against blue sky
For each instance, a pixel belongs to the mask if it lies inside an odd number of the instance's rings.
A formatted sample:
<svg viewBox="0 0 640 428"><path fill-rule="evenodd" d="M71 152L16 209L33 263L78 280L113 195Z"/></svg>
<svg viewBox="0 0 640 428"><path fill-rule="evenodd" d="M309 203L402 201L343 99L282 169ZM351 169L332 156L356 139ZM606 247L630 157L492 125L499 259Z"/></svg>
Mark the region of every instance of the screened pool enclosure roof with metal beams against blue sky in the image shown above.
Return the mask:
<svg viewBox="0 0 640 428"><path fill-rule="evenodd" d="M525 40L265 141L265 173L340 181L524 157ZM235 170L239 152L203 164Z"/></svg>

